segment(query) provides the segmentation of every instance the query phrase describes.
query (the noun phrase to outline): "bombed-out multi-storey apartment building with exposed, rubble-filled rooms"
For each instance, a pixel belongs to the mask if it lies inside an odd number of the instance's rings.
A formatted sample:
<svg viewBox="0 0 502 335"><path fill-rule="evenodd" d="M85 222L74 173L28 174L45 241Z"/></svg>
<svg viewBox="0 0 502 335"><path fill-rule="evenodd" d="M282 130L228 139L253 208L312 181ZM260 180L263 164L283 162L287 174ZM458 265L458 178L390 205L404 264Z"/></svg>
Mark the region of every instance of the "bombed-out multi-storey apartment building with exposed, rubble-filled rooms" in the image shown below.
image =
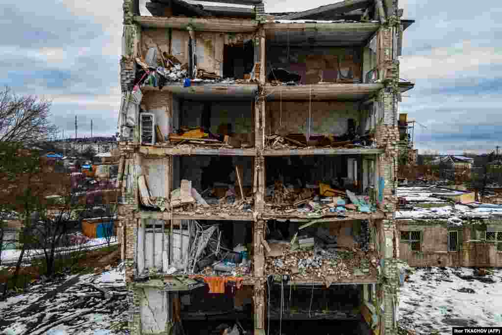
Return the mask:
<svg viewBox="0 0 502 335"><path fill-rule="evenodd" d="M396 334L398 104L413 87L398 56L413 21L396 0L147 11L123 1L131 333Z"/></svg>

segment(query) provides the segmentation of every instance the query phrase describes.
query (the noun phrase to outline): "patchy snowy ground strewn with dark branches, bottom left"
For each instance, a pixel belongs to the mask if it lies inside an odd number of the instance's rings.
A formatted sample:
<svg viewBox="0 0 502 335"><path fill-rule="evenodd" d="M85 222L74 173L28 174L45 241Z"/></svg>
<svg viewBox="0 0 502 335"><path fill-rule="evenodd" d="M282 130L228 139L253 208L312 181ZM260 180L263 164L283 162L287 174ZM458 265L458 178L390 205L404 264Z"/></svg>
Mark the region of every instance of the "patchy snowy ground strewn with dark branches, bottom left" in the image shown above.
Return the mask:
<svg viewBox="0 0 502 335"><path fill-rule="evenodd" d="M127 334L126 294L123 266L38 282L0 301L0 334Z"/></svg>

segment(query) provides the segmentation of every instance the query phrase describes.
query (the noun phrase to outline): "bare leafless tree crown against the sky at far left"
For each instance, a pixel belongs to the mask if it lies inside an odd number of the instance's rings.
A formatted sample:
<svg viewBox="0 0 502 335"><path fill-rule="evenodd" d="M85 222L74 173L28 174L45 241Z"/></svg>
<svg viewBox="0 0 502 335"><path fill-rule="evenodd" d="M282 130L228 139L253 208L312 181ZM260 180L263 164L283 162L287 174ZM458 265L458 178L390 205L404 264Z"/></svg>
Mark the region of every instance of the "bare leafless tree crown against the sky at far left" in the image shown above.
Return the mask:
<svg viewBox="0 0 502 335"><path fill-rule="evenodd" d="M51 102L36 96L0 92L0 142L34 144L49 139L57 128L49 122Z"/></svg>

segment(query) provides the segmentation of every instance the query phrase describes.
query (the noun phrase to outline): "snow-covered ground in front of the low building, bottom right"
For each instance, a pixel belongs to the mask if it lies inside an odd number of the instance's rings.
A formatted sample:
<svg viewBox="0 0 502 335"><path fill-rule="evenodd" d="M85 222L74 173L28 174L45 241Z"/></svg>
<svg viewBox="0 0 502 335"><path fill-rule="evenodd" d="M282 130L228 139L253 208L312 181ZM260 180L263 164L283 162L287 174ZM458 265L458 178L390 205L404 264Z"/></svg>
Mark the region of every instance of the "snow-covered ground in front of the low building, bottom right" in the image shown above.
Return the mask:
<svg viewBox="0 0 502 335"><path fill-rule="evenodd" d="M470 268L414 269L401 287L399 323L417 334L451 334L454 326L502 326L502 269L489 271L491 275L472 279Z"/></svg>

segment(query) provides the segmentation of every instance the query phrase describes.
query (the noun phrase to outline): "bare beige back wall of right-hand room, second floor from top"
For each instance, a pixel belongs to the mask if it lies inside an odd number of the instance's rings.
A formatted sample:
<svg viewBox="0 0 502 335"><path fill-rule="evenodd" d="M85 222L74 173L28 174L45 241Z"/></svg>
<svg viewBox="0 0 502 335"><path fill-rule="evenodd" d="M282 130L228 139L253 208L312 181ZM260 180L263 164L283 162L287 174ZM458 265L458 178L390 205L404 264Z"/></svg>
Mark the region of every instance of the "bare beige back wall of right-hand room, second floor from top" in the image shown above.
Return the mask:
<svg viewBox="0 0 502 335"><path fill-rule="evenodd" d="M307 134L309 101L267 102L266 134L282 130L291 134ZM341 136L347 132L348 119L356 119L356 102L313 101L310 134L333 134Z"/></svg>

